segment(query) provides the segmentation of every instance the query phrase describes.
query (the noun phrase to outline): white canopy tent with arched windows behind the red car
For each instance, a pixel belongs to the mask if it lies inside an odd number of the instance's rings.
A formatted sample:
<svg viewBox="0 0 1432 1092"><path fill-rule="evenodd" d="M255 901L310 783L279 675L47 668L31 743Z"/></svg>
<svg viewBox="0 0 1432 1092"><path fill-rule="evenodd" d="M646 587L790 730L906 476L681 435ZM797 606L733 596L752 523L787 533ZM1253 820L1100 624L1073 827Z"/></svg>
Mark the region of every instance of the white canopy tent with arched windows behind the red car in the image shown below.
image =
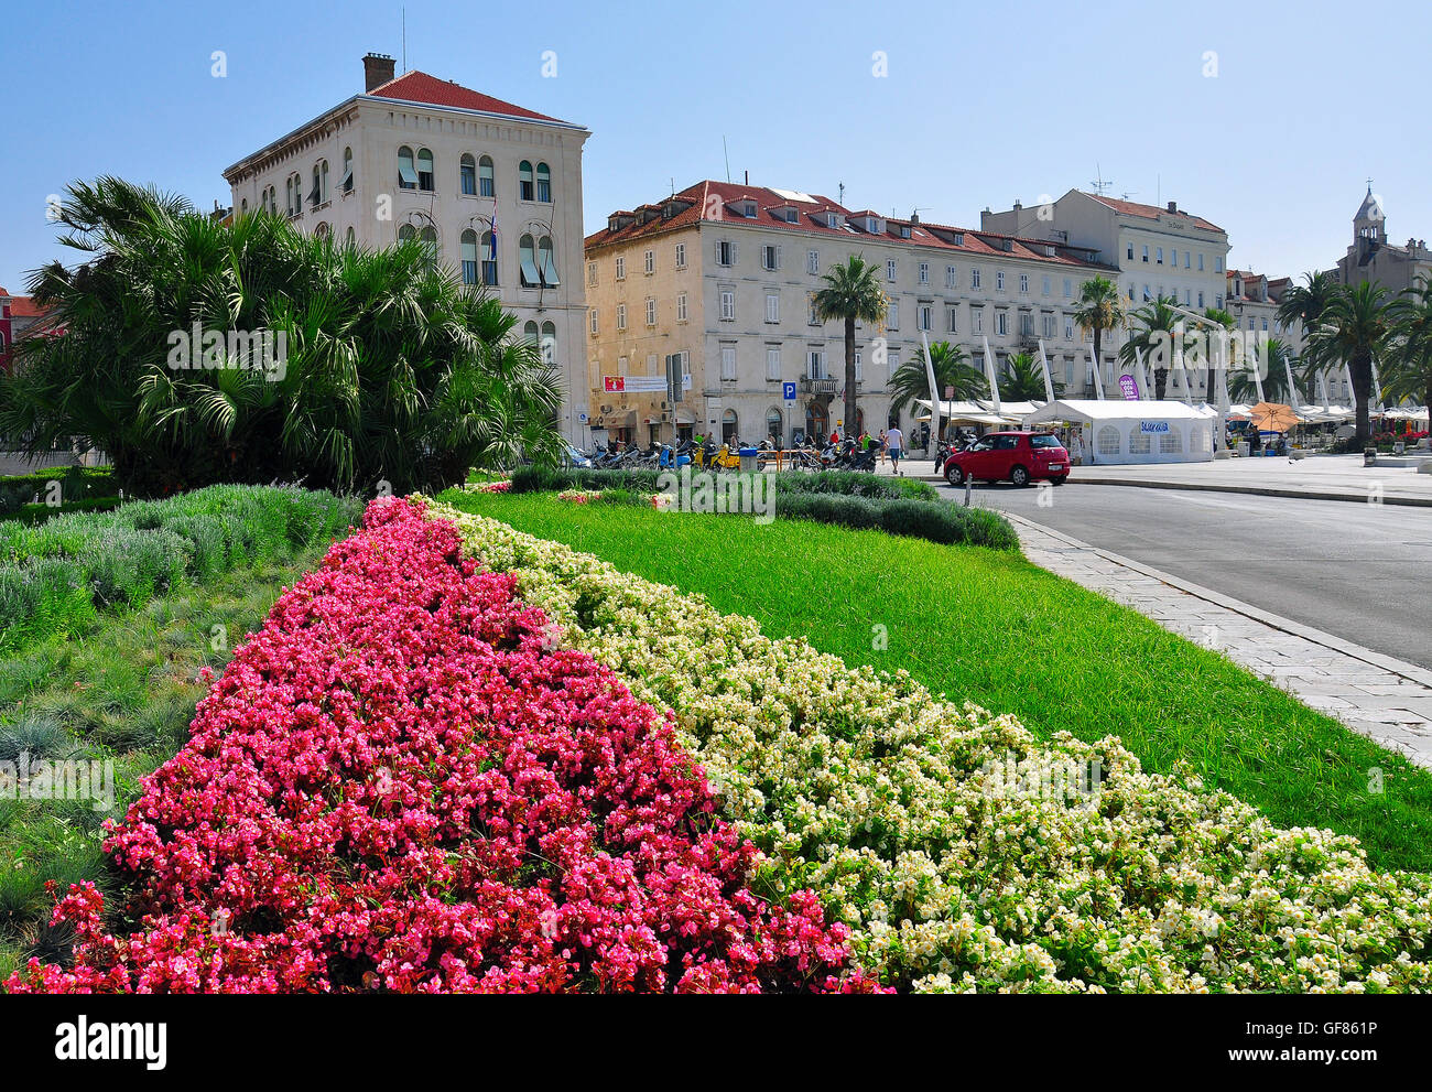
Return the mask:
<svg viewBox="0 0 1432 1092"><path fill-rule="evenodd" d="M1095 464L1201 463L1213 459L1220 416L1207 403L1060 398L1024 423L1078 426Z"/></svg>

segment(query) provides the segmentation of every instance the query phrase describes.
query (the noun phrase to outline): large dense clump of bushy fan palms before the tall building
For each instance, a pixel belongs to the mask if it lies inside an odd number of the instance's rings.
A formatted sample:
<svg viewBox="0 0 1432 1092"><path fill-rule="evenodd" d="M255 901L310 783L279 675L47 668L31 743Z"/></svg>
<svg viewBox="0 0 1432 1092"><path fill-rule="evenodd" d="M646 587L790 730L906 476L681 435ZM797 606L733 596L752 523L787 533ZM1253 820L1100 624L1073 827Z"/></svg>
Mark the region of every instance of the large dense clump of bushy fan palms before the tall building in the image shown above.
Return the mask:
<svg viewBox="0 0 1432 1092"><path fill-rule="evenodd" d="M275 479L410 490L518 449L556 457L553 368L421 241L368 251L281 216L225 225L113 178L73 185L59 219L87 259L30 288L66 332L23 341L0 377L0 434L32 453L84 436L139 494ZM195 325L222 343L180 367ZM272 331L282 367L233 337L253 331Z"/></svg>

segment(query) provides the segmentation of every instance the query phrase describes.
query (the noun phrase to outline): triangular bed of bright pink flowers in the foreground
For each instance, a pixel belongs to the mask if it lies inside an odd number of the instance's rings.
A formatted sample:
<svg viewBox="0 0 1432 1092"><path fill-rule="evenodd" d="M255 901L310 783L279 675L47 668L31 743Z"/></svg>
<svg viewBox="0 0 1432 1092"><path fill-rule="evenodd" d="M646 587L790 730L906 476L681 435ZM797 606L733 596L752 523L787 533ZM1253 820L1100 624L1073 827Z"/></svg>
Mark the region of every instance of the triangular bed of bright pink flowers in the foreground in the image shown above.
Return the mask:
<svg viewBox="0 0 1432 1092"><path fill-rule="evenodd" d="M73 887L73 966L6 989L876 989L812 894L746 889L670 724L513 585L371 504L112 830L126 934Z"/></svg>

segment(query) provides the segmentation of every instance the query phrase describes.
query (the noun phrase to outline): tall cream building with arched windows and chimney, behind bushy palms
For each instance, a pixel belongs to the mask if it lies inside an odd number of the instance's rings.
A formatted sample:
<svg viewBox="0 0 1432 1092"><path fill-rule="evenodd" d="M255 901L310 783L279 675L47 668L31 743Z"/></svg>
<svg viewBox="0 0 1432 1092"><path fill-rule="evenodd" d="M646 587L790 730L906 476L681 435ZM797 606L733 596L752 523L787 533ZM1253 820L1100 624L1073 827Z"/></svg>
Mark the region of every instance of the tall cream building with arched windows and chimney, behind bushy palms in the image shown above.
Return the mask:
<svg viewBox="0 0 1432 1092"><path fill-rule="evenodd" d="M581 149L590 132L424 72L364 57L364 92L228 171L235 215L266 209L365 246L427 239L468 284L497 292L540 341L581 434L586 300ZM495 238L495 246L494 246Z"/></svg>

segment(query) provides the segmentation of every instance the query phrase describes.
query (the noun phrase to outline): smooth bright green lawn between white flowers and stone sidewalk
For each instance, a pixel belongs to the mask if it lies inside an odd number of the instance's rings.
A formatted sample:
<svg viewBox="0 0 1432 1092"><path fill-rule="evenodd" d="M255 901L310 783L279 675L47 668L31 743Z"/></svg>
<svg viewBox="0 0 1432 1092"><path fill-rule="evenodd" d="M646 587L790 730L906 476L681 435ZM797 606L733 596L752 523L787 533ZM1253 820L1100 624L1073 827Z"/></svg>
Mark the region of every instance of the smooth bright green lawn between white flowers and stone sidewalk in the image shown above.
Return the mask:
<svg viewBox="0 0 1432 1092"><path fill-rule="evenodd" d="M1380 868L1432 871L1432 774L1020 556L544 494L442 499L702 592L846 664L905 668L1037 732L1118 735L1153 770L1184 760L1280 825L1330 827L1359 837Z"/></svg>

